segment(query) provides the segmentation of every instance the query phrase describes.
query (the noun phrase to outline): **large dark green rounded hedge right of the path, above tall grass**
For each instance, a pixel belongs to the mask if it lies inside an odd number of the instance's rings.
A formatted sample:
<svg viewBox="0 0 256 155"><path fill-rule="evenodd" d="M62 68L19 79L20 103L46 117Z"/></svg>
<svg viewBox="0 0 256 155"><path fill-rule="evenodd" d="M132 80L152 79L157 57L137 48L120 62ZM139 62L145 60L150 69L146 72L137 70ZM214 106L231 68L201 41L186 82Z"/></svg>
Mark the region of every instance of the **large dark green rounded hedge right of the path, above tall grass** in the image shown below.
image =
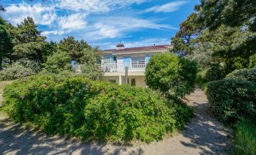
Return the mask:
<svg viewBox="0 0 256 155"><path fill-rule="evenodd" d="M213 81L208 83L206 94L213 114L224 123L236 123L256 114L256 87L248 81Z"/></svg>

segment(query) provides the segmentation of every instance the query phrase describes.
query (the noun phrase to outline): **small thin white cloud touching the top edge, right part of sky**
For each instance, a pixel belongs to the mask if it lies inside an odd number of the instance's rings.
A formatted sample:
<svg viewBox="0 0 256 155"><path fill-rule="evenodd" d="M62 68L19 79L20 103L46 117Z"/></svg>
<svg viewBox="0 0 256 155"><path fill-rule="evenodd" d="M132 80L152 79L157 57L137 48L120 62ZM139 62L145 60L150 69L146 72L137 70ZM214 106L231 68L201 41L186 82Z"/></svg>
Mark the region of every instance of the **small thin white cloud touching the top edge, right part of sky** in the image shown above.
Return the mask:
<svg viewBox="0 0 256 155"><path fill-rule="evenodd" d="M148 8L145 12L174 12L180 9L182 5L187 4L188 1L169 2L165 5L158 5L153 8Z"/></svg>

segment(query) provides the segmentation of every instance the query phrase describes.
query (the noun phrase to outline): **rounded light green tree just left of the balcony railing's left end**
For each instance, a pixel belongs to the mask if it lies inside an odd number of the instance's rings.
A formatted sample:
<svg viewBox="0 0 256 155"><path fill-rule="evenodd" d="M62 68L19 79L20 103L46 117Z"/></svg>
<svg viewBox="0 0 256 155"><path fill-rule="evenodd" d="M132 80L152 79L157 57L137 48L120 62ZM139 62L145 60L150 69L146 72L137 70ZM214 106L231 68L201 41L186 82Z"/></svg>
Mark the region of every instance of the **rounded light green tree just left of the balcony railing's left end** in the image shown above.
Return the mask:
<svg viewBox="0 0 256 155"><path fill-rule="evenodd" d="M52 56L48 56L47 61L43 64L45 70L50 73L58 74L62 71L71 70L71 57L69 54L58 50Z"/></svg>

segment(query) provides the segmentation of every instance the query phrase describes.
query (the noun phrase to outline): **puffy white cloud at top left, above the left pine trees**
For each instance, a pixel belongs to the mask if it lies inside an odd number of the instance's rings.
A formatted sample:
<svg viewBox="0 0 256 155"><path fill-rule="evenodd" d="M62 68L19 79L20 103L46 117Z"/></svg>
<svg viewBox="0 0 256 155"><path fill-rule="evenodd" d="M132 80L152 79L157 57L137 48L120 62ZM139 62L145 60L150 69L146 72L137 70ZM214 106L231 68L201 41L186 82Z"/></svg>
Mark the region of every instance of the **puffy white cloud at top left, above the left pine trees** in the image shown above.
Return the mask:
<svg viewBox="0 0 256 155"><path fill-rule="evenodd" d="M4 17L14 25L23 22L26 17L32 17L35 20L35 23L49 26L54 23L54 20L57 18L54 7L43 6L40 4L32 6L26 4L11 5L6 9L7 12Z"/></svg>

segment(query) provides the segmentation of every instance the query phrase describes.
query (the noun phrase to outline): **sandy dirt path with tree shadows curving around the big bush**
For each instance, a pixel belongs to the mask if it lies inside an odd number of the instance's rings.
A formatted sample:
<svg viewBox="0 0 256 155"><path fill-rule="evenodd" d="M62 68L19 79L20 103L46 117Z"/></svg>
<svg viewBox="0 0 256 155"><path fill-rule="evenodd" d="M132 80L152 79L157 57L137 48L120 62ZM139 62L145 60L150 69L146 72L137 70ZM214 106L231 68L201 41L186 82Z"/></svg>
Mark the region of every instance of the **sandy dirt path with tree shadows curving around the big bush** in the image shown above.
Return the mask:
<svg viewBox="0 0 256 155"><path fill-rule="evenodd" d="M187 96L196 117L183 132L171 138L140 146L84 144L80 141L48 137L24 129L0 114L0 154L226 154L230 132L208 114L208 103L201 90Z"/></svg>

